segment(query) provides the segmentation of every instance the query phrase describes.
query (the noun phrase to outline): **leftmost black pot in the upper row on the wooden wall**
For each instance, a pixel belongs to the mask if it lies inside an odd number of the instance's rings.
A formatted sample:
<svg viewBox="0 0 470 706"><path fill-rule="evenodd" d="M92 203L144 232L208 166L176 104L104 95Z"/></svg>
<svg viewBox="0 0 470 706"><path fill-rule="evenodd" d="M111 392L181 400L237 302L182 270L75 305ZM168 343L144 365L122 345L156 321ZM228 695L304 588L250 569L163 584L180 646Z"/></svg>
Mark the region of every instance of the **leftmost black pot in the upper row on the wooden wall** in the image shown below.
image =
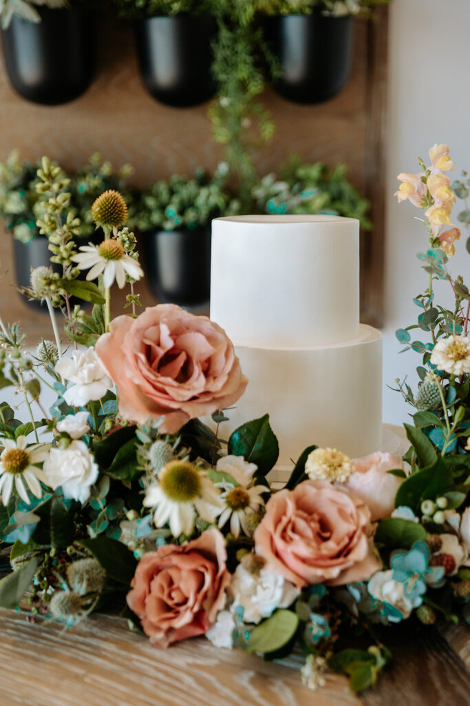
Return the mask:
<svg viewBox="0 0 470 706"><path fill-rule="evenodd" d="M41 22L13 15L2 30L6 73L20 96L56 105L77 98L92 81L94 17L85 8L37 8Z"/></svg>

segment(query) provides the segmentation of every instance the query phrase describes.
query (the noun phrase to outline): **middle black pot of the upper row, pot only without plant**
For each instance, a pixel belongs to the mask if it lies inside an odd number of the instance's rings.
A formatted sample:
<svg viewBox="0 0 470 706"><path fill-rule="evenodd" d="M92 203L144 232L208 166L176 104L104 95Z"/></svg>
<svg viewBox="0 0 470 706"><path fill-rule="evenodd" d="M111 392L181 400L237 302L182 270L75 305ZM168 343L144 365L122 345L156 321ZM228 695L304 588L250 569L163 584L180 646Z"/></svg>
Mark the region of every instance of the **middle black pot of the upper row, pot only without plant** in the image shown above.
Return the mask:
<svg viewBox="0 0 470 706"><path fill-rule="evenodd" d="M151 17L135 25L140 74L148 92L161 103L185 108L216 92L211 43L217 23L211 16Z"/></svg>

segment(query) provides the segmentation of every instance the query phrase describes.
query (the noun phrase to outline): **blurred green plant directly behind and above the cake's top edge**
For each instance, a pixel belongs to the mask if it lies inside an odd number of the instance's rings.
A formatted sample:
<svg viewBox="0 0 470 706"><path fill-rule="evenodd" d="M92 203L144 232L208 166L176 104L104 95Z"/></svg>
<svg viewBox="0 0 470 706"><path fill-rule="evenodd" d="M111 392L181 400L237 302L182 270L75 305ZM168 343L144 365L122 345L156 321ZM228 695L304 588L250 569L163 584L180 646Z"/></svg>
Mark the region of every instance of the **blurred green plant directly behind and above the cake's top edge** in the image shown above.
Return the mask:
<svg viewBox="0 0 470 706"><path fill-rule="evenodd" d="M261 213L324 213L357 218L371 229L370 203L346 179L347 167L331 169L323 162L302 164L292 157L280 168L280 177L268 174L254 187L252 196Z"/></svg>

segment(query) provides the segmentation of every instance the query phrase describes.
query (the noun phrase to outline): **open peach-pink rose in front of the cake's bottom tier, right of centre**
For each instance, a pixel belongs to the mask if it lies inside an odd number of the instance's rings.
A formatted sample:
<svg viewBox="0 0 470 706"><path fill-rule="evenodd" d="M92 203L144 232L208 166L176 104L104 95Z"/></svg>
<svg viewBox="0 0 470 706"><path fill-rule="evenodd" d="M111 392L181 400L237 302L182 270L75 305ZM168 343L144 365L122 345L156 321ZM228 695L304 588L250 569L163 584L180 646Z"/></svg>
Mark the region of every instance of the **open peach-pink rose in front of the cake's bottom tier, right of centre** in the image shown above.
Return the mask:
<svg viewBox="0 0 470 706"><path fill-rule="evenodd" d="M266 570L297 588L364 581L381 568L373 554L371 513L326 481L304 481L271 496L256 527L256 553Z"/></svg>

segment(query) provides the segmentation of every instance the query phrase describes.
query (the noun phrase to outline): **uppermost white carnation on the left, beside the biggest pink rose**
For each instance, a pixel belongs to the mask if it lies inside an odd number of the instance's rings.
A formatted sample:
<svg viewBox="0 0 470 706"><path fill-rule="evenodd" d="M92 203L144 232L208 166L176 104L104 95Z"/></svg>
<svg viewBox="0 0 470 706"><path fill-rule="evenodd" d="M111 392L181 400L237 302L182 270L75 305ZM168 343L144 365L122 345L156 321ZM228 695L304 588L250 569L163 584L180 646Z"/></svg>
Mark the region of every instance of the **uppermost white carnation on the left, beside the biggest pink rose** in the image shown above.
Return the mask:
<svg viewBox="0 0 470 706"><path fill-rule="evenodd" d="M63 395L71 407L83 407L90 400L99 400L113 386L113 381L92 348L74 351L71 358L61 358L55 370L74 383Z"/></svg>

